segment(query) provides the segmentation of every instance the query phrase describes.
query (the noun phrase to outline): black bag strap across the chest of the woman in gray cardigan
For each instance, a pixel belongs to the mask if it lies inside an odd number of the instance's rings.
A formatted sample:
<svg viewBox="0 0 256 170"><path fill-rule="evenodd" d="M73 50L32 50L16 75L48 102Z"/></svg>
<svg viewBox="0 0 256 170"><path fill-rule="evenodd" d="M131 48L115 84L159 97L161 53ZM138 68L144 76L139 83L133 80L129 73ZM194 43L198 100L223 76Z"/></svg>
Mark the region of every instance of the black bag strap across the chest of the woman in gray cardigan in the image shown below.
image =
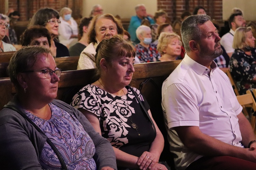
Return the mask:
<svg viewBox="0 0 256 170"><path fill-rule="evenodd" d="M16 111L17 113L19 113L20 115L22 115L22 117L24 117L29 123L31 123L35 129L37 129L41 134L43 134L44 136L46 136L44 134L44 132L32 121L30 120L27 115L25 115L22 111L20 111L19 108L15 107L15 106L12 106L12 105L9 105L9 104L5 104L3 106L3 108L10 108L10 109L13 109L14 111ZM46 136L47 137L47 136ZM57 148L54 146L53 142L47 137L46 138L46 141L49 143L49 145L53 148L54 152L56 153L56 155L58 156L59 160L60 160L60 164L61 164L61 167L64 169L64 170L68 170L67 166L65 165L65 162L62 158L62 156L60 155L59 151L57 150Z"/></svg>

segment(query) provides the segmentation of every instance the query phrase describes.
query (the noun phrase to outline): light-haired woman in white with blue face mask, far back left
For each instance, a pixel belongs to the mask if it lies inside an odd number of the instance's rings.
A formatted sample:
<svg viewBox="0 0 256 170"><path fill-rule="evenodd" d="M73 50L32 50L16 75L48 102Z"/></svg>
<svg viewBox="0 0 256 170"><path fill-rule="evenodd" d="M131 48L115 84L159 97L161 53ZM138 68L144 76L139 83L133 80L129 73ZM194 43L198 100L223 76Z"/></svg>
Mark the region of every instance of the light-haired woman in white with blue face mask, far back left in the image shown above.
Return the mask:
<svg viewBox="0 0 256 170"><path fill-rule="evenodd" d="M59 12L59 42L68 48L78 41L77 23L71 17L72 10L69 7L63 7Z"/></svg>

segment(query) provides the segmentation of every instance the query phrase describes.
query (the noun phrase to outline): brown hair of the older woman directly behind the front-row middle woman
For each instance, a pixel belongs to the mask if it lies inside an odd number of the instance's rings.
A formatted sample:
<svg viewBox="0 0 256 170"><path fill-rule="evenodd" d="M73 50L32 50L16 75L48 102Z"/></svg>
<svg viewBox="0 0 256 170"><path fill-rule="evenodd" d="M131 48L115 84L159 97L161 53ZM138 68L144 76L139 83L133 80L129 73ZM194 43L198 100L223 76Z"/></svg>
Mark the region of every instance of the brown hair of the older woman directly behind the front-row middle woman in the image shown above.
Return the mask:
<svg viewBox="0 0 256 170"><path fill-rule="evenodd" d="M124 35L124 28L123 25L121 23L121 21L119 19L116 19L113 15L111 14L103 14L103 15L96 15L93 20L91 21L91 27L89 30L89 34L88 34L88 43L97 43L96 40L96 22L100 19L100 18L106 18L106 19L110 19L112 20L115 24L116 24L116 28L117 28L117 33Z"/></svg>

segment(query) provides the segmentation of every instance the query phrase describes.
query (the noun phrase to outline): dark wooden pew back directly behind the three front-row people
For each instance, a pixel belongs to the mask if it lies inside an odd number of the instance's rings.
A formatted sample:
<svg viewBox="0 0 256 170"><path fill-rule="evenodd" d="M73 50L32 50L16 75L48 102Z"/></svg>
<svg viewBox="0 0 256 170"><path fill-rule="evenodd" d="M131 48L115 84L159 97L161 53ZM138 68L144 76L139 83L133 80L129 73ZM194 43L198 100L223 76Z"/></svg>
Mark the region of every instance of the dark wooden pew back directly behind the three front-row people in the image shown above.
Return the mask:
<svg viewBox="0 0 256 170"><path fill-rule="evenodd" d="M152 116L165 138L165 148L163 149L161 159L167 161L172 169L174 169L174 163L169 152L167 131L163 122L161 87L163 81L180 62L181 60L135 64L135 72L130 83L131 86L141 90L150 105ZM70 104L76 92L83 86L96 81L94 75L95 69L63 71L58 84L57 99ZM16 90L10 78L0 78L0 89L0 109L2 109L4 104L12 99Z"/></svg>

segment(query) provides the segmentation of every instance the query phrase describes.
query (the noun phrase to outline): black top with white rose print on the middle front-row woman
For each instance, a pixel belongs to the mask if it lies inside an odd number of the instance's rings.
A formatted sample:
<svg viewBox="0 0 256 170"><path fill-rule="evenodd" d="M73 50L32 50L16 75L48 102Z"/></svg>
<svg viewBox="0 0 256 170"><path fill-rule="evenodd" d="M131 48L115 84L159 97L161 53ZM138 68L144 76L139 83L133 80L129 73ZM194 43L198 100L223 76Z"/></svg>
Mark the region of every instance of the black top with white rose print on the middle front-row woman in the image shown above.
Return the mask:
<svg viewBox="0 0 256 170"><path fill-rule="evenodd" d="M73 97L71 105L95 114L100 122L102 136L108 139L113 147L134 156L141 156L144 151L150 149L155 132L136 97L129 88L127 89L127 95L119 97L89 84ZM149 105L140 91L133 89L148 110ZM138 132L131 127L131 121L138 125Z"/></svg>

